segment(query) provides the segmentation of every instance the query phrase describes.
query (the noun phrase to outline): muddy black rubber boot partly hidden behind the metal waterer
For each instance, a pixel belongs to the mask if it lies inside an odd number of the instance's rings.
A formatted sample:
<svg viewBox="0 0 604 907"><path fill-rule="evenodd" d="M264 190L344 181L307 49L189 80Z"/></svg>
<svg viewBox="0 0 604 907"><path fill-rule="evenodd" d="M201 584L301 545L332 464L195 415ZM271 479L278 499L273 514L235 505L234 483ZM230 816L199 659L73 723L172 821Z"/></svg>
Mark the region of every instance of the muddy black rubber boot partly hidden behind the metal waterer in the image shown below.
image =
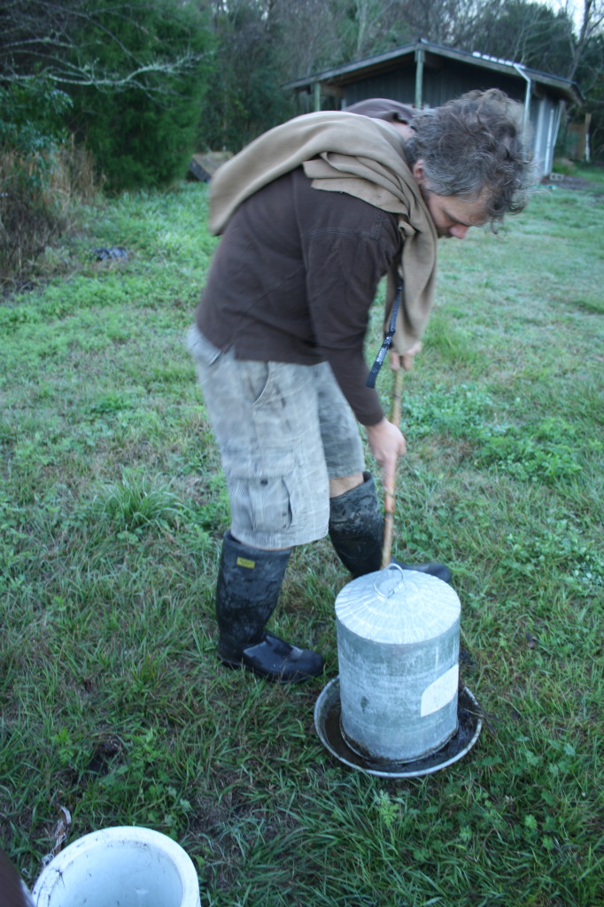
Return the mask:
<svg viewBox="0 0 604 907"><path fill-rule="evenodd" d="M353 578L378 571L382 566L384 517L375 493L371 473L364 473L365 482L349 492L331 498L329 502L329 538L340 561ZM438 580L450 582L452 573L444 564L398 564L402 570L429 573Z"/></svg>

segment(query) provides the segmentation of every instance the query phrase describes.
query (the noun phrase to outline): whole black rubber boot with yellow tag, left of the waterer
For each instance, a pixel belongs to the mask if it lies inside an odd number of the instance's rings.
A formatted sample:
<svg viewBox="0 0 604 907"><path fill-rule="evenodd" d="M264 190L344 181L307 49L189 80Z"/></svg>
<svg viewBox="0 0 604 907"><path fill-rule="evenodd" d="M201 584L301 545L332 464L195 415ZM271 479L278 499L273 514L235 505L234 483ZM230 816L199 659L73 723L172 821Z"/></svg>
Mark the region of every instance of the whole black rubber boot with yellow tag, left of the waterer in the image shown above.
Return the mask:
<svg viewBox="0 0 604 907"><path fill-rule="evenodd" d="M277 607L289 554L248 548L227 532L216 587L219 658L232 668L243 666L278 683L323 672L323 658L317 652L297 649L265 629Z"/></svg>

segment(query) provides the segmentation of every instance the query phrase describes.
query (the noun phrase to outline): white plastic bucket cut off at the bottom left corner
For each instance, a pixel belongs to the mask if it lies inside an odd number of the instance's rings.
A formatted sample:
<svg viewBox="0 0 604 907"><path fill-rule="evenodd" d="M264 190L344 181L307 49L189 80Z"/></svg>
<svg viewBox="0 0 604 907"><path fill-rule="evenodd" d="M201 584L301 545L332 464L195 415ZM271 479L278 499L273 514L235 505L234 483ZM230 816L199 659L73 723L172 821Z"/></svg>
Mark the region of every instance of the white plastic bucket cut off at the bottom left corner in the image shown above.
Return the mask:
<svg viewBox="0 0 604 907"><path fill-rule="evenodd" d="M180 844L150 828L85 834L34 885L34 907L200 907L195 867Z"/></svg>

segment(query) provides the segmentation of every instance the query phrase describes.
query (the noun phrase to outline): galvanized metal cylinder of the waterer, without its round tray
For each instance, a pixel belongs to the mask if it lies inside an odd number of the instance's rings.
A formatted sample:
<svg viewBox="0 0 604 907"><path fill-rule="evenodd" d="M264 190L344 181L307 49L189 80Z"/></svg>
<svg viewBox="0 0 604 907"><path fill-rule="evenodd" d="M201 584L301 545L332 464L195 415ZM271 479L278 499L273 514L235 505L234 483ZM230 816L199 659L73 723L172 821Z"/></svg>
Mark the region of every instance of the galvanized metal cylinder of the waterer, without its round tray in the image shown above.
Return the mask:
<svg viewBox="0 0 604 907"><path fill-rule="evenodd" d="M457 730L460 600L393 564L336 598L341 727L359 755L412 762Z"/></svg>

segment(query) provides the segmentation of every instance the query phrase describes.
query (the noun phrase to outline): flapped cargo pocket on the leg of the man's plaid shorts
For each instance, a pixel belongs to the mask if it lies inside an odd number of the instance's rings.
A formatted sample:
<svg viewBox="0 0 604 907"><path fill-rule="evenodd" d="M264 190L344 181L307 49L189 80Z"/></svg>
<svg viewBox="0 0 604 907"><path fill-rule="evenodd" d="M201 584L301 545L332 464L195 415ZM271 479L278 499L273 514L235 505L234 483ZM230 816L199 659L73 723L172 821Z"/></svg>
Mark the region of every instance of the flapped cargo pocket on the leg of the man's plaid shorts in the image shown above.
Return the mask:
<svg viewBox="0 0 604 907"><path fill-rule="evenodd" d="M296 502L294 454L267 448L261 456L223 451L222 466L229 486L233 524L254 532L288 529Z"/></svg>

